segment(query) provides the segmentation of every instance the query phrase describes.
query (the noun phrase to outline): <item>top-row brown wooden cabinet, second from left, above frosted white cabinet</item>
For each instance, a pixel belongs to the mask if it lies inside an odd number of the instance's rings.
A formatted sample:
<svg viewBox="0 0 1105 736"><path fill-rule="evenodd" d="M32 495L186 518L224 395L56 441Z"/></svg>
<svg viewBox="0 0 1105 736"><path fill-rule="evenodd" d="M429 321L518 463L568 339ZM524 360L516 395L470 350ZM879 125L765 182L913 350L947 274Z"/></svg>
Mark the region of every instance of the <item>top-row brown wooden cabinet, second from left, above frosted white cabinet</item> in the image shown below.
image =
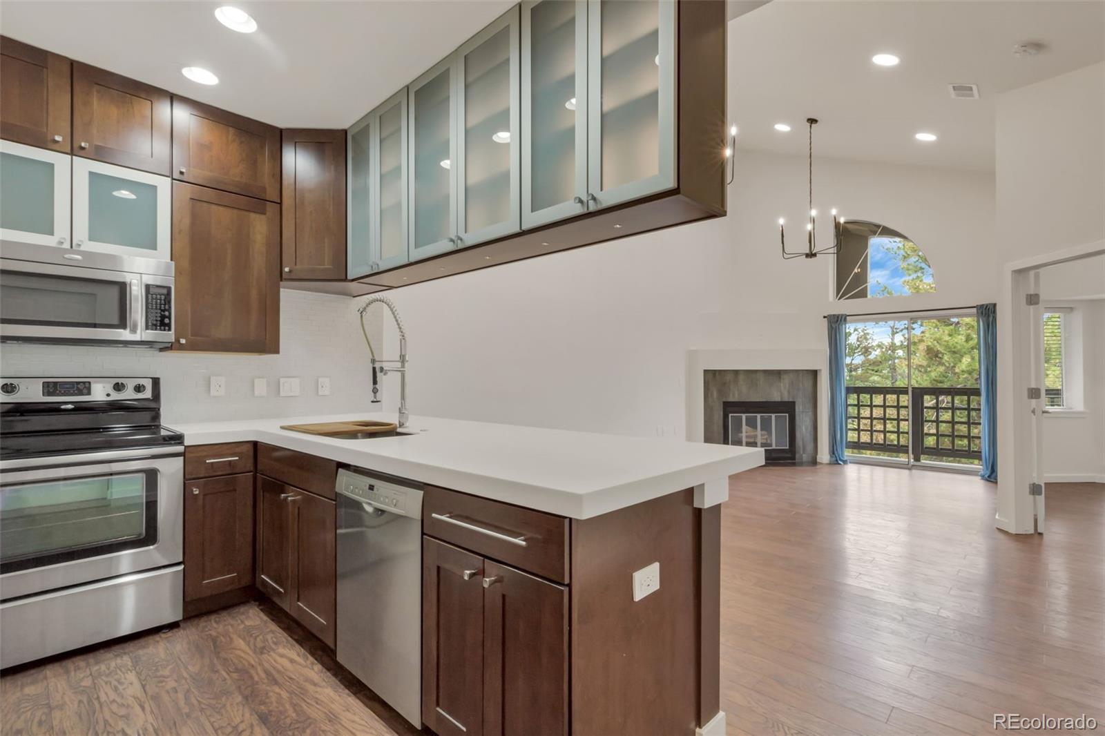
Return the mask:
<svg viewBox="0 0 1105 736"><path fill-rule="evenodd" d="M169 93L73 63L73 146L77 156L169 176Z"/></svg>

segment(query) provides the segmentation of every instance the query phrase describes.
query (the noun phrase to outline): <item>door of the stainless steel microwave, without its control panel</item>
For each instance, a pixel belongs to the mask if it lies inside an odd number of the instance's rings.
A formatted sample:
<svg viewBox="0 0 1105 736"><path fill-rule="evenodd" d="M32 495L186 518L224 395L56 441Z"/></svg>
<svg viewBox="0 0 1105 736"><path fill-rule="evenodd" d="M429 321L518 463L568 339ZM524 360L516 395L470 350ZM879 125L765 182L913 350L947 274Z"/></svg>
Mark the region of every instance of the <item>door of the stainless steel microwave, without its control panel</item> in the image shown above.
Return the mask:
<svg viewBox="0 0 1105 736"><path fill-rule="evenodd" d="M141 275L0 260L0 336L139 341Z"/></svg>

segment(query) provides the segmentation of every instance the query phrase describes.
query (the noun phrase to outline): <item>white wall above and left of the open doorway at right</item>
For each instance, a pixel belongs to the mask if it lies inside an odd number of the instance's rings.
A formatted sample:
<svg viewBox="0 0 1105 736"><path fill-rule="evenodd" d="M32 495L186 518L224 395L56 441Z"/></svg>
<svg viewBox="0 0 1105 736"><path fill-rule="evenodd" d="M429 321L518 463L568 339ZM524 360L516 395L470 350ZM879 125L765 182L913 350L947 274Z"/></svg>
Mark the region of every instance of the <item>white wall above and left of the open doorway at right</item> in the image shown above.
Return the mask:
<svg viewBox="0 0 1105 736"><path fill-rule="evenodd" d="M1105 241L1105 63L998 95L996 106L997 269ZM998 416L1013 418L1013 290L999 286ZM998 428L998 526L1031 532L1028 428Z"/></svg>

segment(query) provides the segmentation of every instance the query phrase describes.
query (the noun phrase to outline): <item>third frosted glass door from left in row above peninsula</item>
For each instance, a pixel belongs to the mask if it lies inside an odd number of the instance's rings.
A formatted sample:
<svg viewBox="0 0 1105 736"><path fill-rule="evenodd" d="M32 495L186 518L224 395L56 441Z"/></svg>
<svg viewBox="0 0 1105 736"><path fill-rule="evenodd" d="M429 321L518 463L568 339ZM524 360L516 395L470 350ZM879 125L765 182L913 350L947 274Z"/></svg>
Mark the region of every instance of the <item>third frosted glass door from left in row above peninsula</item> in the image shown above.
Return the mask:
<svg viewBox="0 0 1105 736"><path fill-rule="evenodd" d="M456 245L456 56L408 87L411 261Z"/></svg>

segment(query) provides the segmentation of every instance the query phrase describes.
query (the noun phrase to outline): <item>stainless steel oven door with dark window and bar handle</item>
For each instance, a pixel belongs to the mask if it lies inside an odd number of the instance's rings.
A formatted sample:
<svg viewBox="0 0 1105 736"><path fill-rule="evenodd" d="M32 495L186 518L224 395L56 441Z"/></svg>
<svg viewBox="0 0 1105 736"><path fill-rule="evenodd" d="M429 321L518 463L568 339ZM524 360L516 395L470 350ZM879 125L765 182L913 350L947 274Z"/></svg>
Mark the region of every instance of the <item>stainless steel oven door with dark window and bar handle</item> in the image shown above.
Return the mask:
<svg viewBox="0 0 1105 736"><path fill-rule="evenodd" d="M38 466L9 470L27 463ZM4 461L0 470L0 600L182 559L180 448Z"/></svg>

